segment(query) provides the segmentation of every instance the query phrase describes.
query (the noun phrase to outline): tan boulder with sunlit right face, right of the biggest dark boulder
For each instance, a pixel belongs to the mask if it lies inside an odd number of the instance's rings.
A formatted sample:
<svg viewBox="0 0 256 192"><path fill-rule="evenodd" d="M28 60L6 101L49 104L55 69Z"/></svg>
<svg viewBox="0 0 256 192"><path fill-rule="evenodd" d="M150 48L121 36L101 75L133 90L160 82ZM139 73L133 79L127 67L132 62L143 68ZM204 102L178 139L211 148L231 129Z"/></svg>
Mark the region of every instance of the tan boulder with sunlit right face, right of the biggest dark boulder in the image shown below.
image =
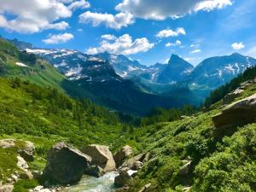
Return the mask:
<svg viewBox="0 0 256 192"><path fill-rule="evenodd" d="M88 154L91 157L91 163L100 166L104 172L115 170L113 154L108 149L108 146L94 144L82 148L81 151L84 154Z"/></svg>

